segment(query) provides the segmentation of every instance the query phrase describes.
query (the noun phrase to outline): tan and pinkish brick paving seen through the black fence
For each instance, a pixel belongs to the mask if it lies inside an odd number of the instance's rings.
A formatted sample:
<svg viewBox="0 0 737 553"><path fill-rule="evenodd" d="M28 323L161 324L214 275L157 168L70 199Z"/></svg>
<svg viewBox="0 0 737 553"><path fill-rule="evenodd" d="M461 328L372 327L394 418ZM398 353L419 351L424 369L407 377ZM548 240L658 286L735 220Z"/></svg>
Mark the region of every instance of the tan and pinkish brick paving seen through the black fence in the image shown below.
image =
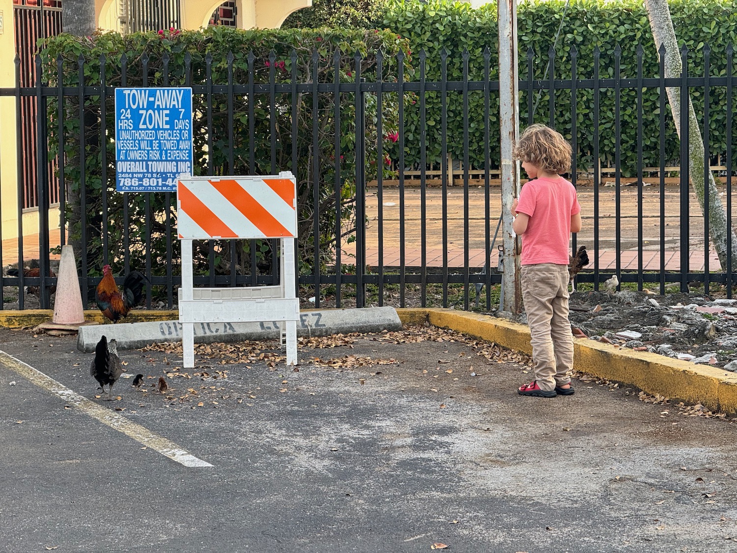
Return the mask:
<svg viewBox="0 0 737 553"><path fill-rule="evenodd" d="M724 187L720 187L722 190ZM656 187L648 187L643 192L642 205L638 209L638 195L636 187L623 187L619 198L619 206L612 187L601 187L598 190L598 260L600 271L612 271L616 268L616 229L615 214L617 208L621 212L619 223L621 268L636 270L638 268L638 246L643 243L643 269L646 271L660 270L660 230L661 223L665 223L666 233L666 270L680 270L680 193L677 187L668 187L666 194L661 198ZM385 267L399 266L399 189L385 187L382 192L382 205L379 206L378 190L369 188L366 193L366 262L368 265L380 265L378 238L383 237L383 265ZM584 228L578 234L578 243L587 246L589 257L594 256L594 198L592 187L579 187L579 201L584 219ZM469 266L483 267L485 262L484 248L486 244L486 198L483 188L469 187L468 206L464 206L464 190L461 187L450 187L447 190L445 201L445 231L447 233L448 266L453 269L464 267L464 234L468 220L469 239L468 255ZM422 191L419 188L408 187L403 198L405 205L405 265L419 267L422 265ZM726 197L722 196L722 202ZM499 217L500 189L492 187L489 196L489 214L491 218L492 235L496 229ZM661 204L666 209L665 221L660 220ZM733 202L733 209L737 209L737 202ZM379 212L381 210L381 225ZM642 212L642 218L638 212ZM468 212L468 218L465 212ZM703 216L693 193L690 203L690 235L691 251L689 252L689 270L701 272L704 270L703 246ZM425 248L427 266L439 268L443 263L444 242L442 240L444 219L442 190L439 187L428 187L425 190ZM737 214L733 215L737 221ZM641 236L641 238L640 238ZM58 245L60 233L58 229L51 232L52 247ZM501 237L497 237L500 244ZM3 240L3 265L18 261L18 245L15 240ZM496 248L495 248L496 249ZM343 243L346 254L354 254L355 243ZM24 259L38 257L38 235L30 234L24 237ZM58 256L52 257L58 259ZM343 257L343 262L351 262L351 257ZM497 251L492 251L492 267L497 265ZM709 253L710 270L719 270L719 259L714 251ZM593 263L588 265L593 269Z"/></svg>

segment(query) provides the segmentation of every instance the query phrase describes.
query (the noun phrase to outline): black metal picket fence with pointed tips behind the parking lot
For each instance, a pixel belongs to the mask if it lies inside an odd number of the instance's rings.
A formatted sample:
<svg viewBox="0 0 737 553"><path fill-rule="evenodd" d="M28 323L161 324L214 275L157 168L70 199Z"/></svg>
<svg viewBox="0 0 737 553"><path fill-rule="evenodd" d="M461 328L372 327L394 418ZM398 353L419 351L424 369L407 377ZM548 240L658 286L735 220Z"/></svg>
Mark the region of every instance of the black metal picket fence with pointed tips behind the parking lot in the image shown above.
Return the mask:
<svg viewBox="0 0 737 553"><path fill-rule="evenodd" d="M663 49L657 63L658 74L643 74L643 50L638 49L637 59L634 63L628 60L627 64L635 67L635 74L625 77L621 75L620 49L607 54L604 61L596 49L591 63L584 66L574 47L570 58L565 60L570 68L565 75L567 78L556 78L561 75L556 75L554 57L541 68L536 66L534 52L528 52L526 72L521 75L525 78L519 83L521 117L528 123L547 122L570 138L573 166L568 177L578 187L581 198L586 198L581 202L584 229L572 237L572 248L575 250L581 243L587 245L592 261L587 270L579 274L579 282L593 283L595 289L604 279L617 274L621 282L635 283L640 289L656 283L661 293L665 293L669 283L677 283L685 290L689 283L700 282L705 293L714 285L724 285L727 296L731 297L732 243L727 240L723 256L725 267L715 266L713 252L710 253L708 247L710 218L702 215L698 208L688 178L691 154L685 147L688 144L687 114L682 111L681 126L685 136L679 146L674 142L674 122L666 88L677 88L682 102L688 102L689 94L699 99L698 116L705 139L702 155L719 176L719 194L726 210L727 229L731 229L733 86L737 83L733 76L733 49L729 46L722 52L726 62L715 67L710 64L710 51L705 46L697 52L703 60L702 66L691 70L689 62L696 53L686 49L681 53L687 69L680 77L665 77ZM352 77L352 82L341 82L337 66L334 82L318 77L324 66L329 68L329 63L316 54L312 57L310 72L296 74L293 69L282 80L275 77L276 60L271 55L267 63L268 81L261 83L255 77L258 68L254 69L253 55L249 58L244 82L234 80L232 55L227 58L223 55L222 63L228 64L230 75L226 83L214 82L209 69L197 82L195 79L200 77L193 77L191 70L185 69L186 84L192 86L193 94L203 106L197 117L201 119L207 147L206 153L200 156L202 166L198 170L205 175L239 174L239 170L256 174L294 170L299 167L303 150L296 138L291 142L283 136L279 138L277 126L287 122L294 137L303 130L302 126L306 127L307 136L312 136L312 151L318 152L318 135L322 129L318 129L315 114L318 110L329 111L329 124L335 126L335 133L331 135L332 153L324 159L315 153L310 160L310 171L304 172L312 174L296 175L302 187L311 187L309 192L314 198L310 232L303 232L300 237L303 244L310 243L309 248L302 249L309 252L307 257L311 262L301 265L299 295L303 299L313 296L315 307L462 305L469 309L476 285L486 285L489 291L492 285L500 282L500 274L493 269L481 271L484 266L496 265L495 229L498 230L500 218L500 189L495 181L498 164L494 159L498 145L492 142L492 136L497 134L494 125L499 83L489 78L492 67L488 49L482 59L481 66L469 68L469 55L464 54L458 60L460 80L447 78L449 63L455 61L449 62L446 52L433 60L441 65L440 80L427 80L426 67L430 60L425 52L420 52L416 71L411 75L402 69L400 54L396 60L399 75L395 82L382 78L382 55L377 57L379 70L372 82L362 78L358 54L352 66L341 69L342 74ZM208 68L218 61L209 58ZM85 78L83 63L80 60L81 80ZM120 86L126 86L125 63L124 60ZM144 56L141 63L143 84L147 86L148 58ZM691 66L694 66L692 61ZM164 67L169 68L168 60ZM37 74L41 74L40 59L37 68ZM281 69L284 72L283 65ZM165 70L165 84L168 84L169 70ZM543 70L545 78L534 78ZM61 62L58 73L62 74ZM601 77L602 73L607 76ZM471 80L470 74L483 77ZM144 260L144 266L133 268L143 269L153 283L153 288L147 291L147 306L171 307L174 303L175 287L181 282L175 195L149 193L141 201L140 196L123 194L116 203L116 210L120 212L116 214L115 228L109 223L108 202L117 192L114 192L112 159L107 153L111 139L105 119L111 114L116 86L106 85L104 79L102 84L85 86L47 86L41 81L35 86L24 86L18 80L15 88L0 89L0 98L14 97L16 106L30 97L38 102L39 144L59 147L63 152L66 146L64 162L58 164L58 205L50 204L48 181L52 175L46 169L49 167L47 147L28 151L18 142L21 151L17 161L0 159L1 164L18 163L19 173L23 173L21 160L32 159L38 173L34 183L41 214L38 225L24 223L19 199L18 238L7 236L10 234L7 226L4 231L0 229L0 257L4 263L12 261L27 266L29 260L38 260L40 277L24 277L22 271L19 277L2 277L4 286L18 287L20 309L24 308L24 286L29 285L40 285L42 291L46 290L41 293L40 305L50 305L48 287L55 284L55 278L46 275L57 252L55 246L67 240L66 232L60 232L55 240L53 229L49 229L49 214L56 210L60 213L62 229L74 212L85 221L81 235L75 238L81 244L77 260L85 302L94 301L94 285L101 274L101 267L89 262L94 250L97 252L95 263L116 260L123 272L132 268L131 259ZM318 94L323 95L321 98L328 94L332 103L318 105ZM643 109L646 97L657 100L657 109ZM92 122L85 121L85 117L90 117L91 99L97 105ZM72 100L74 103L70 104ZM387 108L390 104L391 110ZM70 105L74 110L70 110ZM244 136L234 136L235 105L245 106L245 114L239 116L238 121L242 122L241 128L248 129L248 136L245 131ZM473 111L469 105L475 106ZM49 108L53 106L56 106L56 117L49 116ZM214 114L213 106L223 109ZM452 110L455 113L460 110L460 130L449 128ZM605 111L609 115L604 116ZM69 117L77 119L77 136L67 135L66 119ZM213 125L216 117L226 122L222 136L217 134L220 127ZM341 118L354 120L350 136L341 134ZM266 119L266 128L270 128L268 136L255 136L255 129ZM713 131L715 125L718 132ZM21 133L21 119L18 119L17 128ZM386 131L395 128L396 132ZM267 142L263 147L270 152L266 167L254 162L254 149L259 139ZM623 139L628 145L625 153L629 161L626 163L622 161ZM102 144L94 150L95 159L99 159L99 174L96 175L89 173L88 164L85 164L85 156L92 151L91 140L98 141L98 146ZM70 154L69 144L74 141L78 152ZM243 151L250 153L244 156L250 159L234 155L234 144L239 141L248 143ZM451 146L451 142L455 146ZM220 150L228 162L214 167L212 160ZM455 174L461 173L462 186L453 186L454 164L449 158L450 150L458 159ZM433 153L428 154L431 151ZM346 175L340 169L343 156L354 159L351 175L354 195L347 203L346 198L340 198L346 190L343 186ZM646 159L657 159L659 164L648 167L643 161ZM74 173L80 189L71 205L65 188L69 187L69 167L75 163L81 168ZM606 167L609 164L613 167ZM325 181L325 166L335 167L330 173L332 181ZM387 167L394 173L387 173ZM99 183L98 186L92 186L93 182ZM15 183L2 183L4 190L14 186ZM18 180L18 198L24 193L22 181ZM705 205L709 204L709 193L707 188ZM152 198L157 196L159 199L154 203ZM320 226L318 213L324 209L326 197L332 198L329 209L335 209L336 217L343 222L335 229ZM94 204L91 209L92 198L100 201L99 207ZM158 207L154 209L153 206ZM623 213L623 206L630 212ZM353 226L351 220L357 223ZM94 236L88 233L92 227L97 229ZM142 240L139 242L130 239L133 229L140 231ZM113 232L119 233L119 240L110 239ZM29 251L26 243L33 240L35 234L38 234L38 251ZM332 239L322 240L326 234L331 234ZM9 248L15 251L16 246L18 254L13 254L10 260L6 251ZM262 257L255 253L271 254L276 250L273 245L251 242L247 248L250 255L243 258L237 257L235 249L234 243L218 243L206 248L195 283L262 285L278 280L278 263L273 260L259 262ZM224 258L227 259L223 264ZM0 288L0 305L14 302L14 295ZM484 307L490 309L492 294L486 293L484 299Z"/></svg>

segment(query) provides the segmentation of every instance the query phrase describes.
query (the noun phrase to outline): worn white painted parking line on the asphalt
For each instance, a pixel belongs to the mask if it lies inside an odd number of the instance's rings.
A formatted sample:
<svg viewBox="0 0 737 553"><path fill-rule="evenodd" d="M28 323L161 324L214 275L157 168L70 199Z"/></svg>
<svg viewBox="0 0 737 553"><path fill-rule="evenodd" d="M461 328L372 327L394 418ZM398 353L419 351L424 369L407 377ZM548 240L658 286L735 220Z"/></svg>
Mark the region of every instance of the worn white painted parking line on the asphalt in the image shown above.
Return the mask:
<svg viewBox="0 0 737 553"><path fill-rule="evenodd" d="M185 467L212 467L209 462L198 459L194 455L187 453L174 442L171 442L166 438L162 438L157 434L153 434L153 432L144 428L142 425L136 424L136 422L130 422L130 420L117 414L115 411L111 411L108 408L97 405L97 403L77 394L77 392L73 392L53 378L44 375L43 372L38 369L34 369L29 364L16 359L13 355L8 354L1 349L0 365L13 372L17 372L18 375L24 376L36 386L61 397L69 405L79 408L80 411L93 419L99 420L102 424L108 425L116 431L122 432L126 436L135 439L136 442L140 442L147 448L158 451L161 455L167 456Z"/></svg>

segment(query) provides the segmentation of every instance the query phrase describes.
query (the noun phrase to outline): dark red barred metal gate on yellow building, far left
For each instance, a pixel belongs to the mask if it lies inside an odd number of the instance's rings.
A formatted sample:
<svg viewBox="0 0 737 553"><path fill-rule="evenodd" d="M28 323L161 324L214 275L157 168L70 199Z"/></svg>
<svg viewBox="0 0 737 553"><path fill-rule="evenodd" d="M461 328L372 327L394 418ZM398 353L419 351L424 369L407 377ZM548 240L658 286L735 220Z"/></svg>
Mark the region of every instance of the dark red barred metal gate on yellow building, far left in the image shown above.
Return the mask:
<svg viewBox="0 0 737 553"><path fill-rule="evenodd" d="M21 60L21 86L36 85L35 54L39 38L61 32L61 0L13 0L15 52ZM38 206L38 105L35 97L21 97L20 128L22 171L18 175L23 184L24 209ZM47 147L47 145L41 145ZM49 160L49 204L59 201L57 160Z"/></svg>

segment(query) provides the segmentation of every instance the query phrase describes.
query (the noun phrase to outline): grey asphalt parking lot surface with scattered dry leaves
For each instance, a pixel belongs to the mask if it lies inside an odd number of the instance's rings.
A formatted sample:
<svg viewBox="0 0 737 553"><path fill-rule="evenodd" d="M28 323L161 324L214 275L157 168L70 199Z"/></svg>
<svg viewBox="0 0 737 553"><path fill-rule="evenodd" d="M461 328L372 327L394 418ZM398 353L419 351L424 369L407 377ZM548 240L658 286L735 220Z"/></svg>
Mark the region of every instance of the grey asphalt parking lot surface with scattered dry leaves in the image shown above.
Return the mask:
<svg viewBox="0 0 737 553"><path fill-rule="evenodd" d="M121 352L144 385L107 401L74 337L0 329L0 550L737 549L731 420L595 381L520 397L523 356L427 327L301 344L297 372L269 348L199 349L189 370L175 348Z"/></svg>

